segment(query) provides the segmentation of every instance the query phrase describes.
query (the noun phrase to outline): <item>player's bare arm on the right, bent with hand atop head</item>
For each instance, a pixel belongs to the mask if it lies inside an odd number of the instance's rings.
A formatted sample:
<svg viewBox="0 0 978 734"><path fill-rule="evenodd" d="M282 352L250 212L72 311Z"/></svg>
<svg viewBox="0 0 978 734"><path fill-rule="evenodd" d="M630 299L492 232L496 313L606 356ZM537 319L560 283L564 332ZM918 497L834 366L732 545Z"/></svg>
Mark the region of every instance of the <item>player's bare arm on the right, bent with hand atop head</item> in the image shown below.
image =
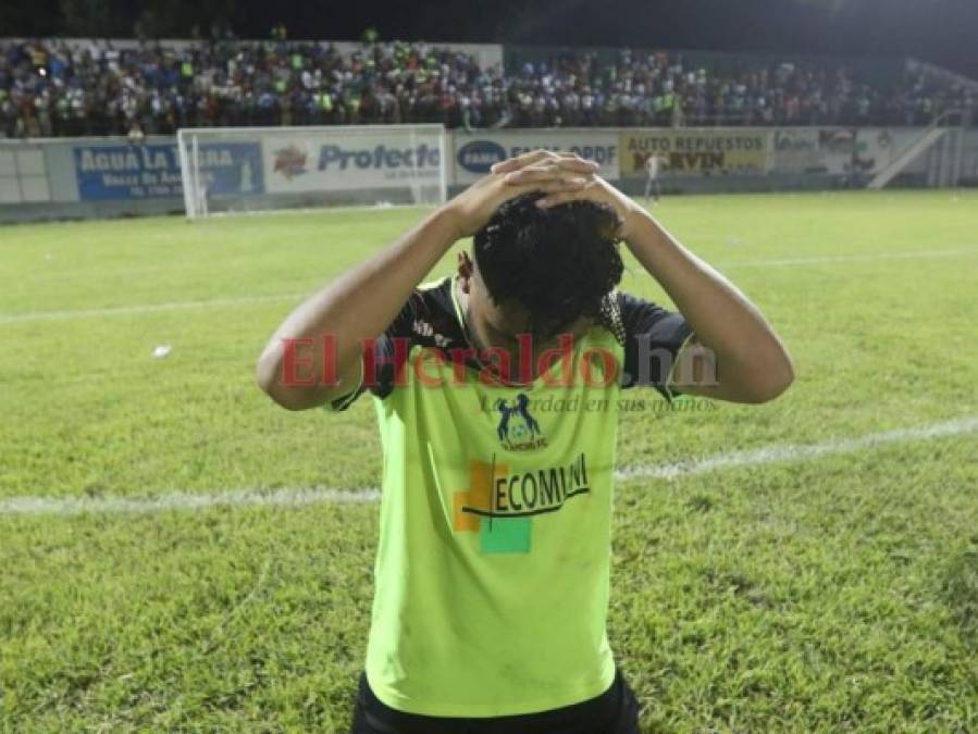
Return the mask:
<svg viewBox="0 0 978 734"><path fill-rule="evenodd" d="M513 186L527 185L538 175L533 169L518 169L513 161L497 164L493 171L506 174ZM734 402L766 402L788 388L794 380L788 350L736 286L597 175L590 176L579 190L549 194L538 203L547 207L575 199L615 207L622 221L622 239L693 328L695 340L682 349L672 371L673 380L674 375L693 375L693 380L674 383L679 390ZM704 354L713 365L704 364ZM711 366L715 380L710 380Z"/></svg>

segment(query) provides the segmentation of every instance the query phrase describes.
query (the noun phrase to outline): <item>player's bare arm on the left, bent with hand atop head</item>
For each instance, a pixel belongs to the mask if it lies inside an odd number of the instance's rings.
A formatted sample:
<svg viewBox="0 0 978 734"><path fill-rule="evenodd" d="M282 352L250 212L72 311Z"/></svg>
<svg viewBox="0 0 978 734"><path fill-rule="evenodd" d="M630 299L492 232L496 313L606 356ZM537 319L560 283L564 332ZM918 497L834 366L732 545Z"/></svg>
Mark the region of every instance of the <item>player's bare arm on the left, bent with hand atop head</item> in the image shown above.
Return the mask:
<svg viewBox="0 0 978 734"><path fill-rule="evenodd" d="M456 240L478 232L507 199L531 190L574 190L594 170L592 163L565 157L541 166L532 185L510 186L495 174L479 181L293 311L258 360L259 386L289 410L315 408L354 393L362 376L361 340L375 338L389 326L413 288ZM326 359L335 360L329 371ZM327 384L325 375L335 380Z"/></svg>

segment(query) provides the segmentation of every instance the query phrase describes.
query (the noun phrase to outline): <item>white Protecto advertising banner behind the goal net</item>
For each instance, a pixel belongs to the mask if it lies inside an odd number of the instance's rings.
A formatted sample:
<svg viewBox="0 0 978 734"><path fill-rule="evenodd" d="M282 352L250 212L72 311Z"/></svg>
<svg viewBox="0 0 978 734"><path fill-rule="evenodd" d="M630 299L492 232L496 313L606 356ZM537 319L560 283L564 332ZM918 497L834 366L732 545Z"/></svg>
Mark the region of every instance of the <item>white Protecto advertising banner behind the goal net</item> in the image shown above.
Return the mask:
<svg viewBox="0 0 978 734"><path fill-rule="evenodd" d="M437 184L438 136L293 133L262 136L265 191L302 194Z"/></svg>

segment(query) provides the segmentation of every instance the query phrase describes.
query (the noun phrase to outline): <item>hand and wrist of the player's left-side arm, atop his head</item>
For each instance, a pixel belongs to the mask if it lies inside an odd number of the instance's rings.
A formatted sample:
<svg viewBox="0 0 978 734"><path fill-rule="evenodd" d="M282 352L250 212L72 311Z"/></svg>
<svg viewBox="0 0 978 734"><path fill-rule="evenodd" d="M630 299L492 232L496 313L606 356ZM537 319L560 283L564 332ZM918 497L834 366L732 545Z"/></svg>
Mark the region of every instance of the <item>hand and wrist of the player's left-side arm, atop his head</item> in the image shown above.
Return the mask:
<svg viewBox="0 0 978 734"><path fill-rule="evenodd" d="M535 150L496 163L492 173L445 204L445 210L455 223L457 238L471 237L505 201L530 191L547 195L579 191L596 170L596 163L577 155ZM513 172L532 175L524 182L517 182L509 177Z"/></svg>

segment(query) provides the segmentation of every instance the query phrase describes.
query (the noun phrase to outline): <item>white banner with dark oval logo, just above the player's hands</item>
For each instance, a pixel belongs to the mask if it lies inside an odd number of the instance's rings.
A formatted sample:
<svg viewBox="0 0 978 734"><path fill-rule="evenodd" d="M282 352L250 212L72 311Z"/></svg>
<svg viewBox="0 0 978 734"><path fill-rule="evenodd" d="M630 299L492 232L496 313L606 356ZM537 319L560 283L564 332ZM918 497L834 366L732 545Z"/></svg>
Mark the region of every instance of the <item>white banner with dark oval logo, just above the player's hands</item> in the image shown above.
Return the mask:
<svg viewBox="0 0 978 734"><path fill-rule="evenodd" d="M496 161L538 148L577 153L599 163L605 178L620 177L617 129L456 130L451 139L455 184L470 184L487 174Z"/></svg>

